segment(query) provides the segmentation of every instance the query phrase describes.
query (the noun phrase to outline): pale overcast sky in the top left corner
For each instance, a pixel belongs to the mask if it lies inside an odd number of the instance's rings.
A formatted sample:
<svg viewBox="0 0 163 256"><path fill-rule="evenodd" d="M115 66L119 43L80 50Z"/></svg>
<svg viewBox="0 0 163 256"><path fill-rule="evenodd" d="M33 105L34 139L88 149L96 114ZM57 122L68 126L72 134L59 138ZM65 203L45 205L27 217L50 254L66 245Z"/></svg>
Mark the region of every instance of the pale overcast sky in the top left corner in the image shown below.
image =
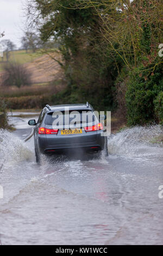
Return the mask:
<svg viewBox="0 0 163 256"><path fill-rule="evenodd" d="M2 39L10 39L18 47L23 34L23 3L26 0L0 0L0 32L4 31Z"/></svg>

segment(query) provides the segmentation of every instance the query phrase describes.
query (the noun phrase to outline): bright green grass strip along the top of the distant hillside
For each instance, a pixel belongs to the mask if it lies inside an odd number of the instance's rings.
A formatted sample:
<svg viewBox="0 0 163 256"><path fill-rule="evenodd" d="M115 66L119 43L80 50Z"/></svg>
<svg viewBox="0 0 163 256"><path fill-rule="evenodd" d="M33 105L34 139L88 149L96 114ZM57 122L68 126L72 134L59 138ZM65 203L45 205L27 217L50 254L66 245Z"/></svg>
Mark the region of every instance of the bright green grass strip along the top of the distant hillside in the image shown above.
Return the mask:
<svg viewBox="0 0 163 256"><path fill-rule="evenodd" d="M24 64L27 62L33 62L34 59L37 57L42 56L43 53L41 53L39 50L33 53L32 51L28 50L28 53L26 53L26 50L20 50L20 51L12 51L10 52L9 61L15 61L20 64ZM3 64L7 61L5 52L3 53L3 58L0 57L0 71L3 71ZM3 60L3 62L2 62Z"/></svg>

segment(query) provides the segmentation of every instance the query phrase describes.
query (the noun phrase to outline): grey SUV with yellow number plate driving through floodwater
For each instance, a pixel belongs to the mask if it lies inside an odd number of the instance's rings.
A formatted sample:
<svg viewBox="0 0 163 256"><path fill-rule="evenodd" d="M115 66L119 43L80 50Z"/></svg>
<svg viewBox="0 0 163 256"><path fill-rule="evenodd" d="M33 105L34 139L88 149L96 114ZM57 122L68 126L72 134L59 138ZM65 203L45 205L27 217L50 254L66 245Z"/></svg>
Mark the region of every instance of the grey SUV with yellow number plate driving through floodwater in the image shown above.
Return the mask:
<svg viewBox="0 0 163 256"><path fill-rule="evenodd" d="M106 119L105 115L101 120ZM108 155L107 137L104 123L93 107L86 104L46 105L37 123L29 120L34 127L36 162L41 154L72 154L99 156L102 150Z"/></svg>

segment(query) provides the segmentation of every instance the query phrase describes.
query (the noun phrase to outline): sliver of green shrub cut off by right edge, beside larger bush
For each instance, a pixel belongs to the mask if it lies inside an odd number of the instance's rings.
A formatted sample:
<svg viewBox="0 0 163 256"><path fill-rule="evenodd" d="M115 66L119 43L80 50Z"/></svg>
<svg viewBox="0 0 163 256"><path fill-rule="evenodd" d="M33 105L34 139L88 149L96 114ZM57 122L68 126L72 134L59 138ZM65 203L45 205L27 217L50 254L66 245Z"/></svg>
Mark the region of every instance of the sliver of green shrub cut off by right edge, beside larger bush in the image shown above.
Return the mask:
<svg viewBox="0 0 163 256"><path fill-rule="evenodd" d="M154 100L154 106L156 117L158 117L160 124L163 124L163 92L160 92Z"/></svg>

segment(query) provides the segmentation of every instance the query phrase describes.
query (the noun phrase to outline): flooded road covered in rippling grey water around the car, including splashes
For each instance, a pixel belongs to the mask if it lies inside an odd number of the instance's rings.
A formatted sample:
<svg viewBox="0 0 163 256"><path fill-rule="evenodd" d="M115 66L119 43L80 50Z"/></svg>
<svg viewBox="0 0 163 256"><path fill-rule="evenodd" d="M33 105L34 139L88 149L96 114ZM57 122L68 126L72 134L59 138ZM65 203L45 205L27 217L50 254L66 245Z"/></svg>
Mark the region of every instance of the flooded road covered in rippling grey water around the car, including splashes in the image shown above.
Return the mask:
<svg viewBox="0 0 163 256"><path fill-rule="evenodd" d="M29 119L10 117L17 130L0 131L0 244L163 244L160 126L111 135L108 157L37 166L33 137L23 142Z"/></svg>

